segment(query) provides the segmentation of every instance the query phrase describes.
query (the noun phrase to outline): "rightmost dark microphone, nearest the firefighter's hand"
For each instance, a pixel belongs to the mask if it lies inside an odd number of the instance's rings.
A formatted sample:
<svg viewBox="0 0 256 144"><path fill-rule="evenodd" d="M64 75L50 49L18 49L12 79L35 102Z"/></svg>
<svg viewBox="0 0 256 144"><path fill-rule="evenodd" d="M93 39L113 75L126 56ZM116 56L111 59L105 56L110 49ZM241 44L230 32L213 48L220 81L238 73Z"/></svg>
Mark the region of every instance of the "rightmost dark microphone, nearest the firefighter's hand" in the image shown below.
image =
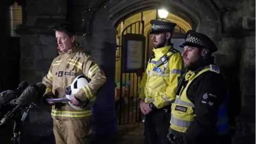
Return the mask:
<svg viewBox="0 0 256 144"><path fill-rule="evenodd" d="M37 102L41 102L41 98L43 97L44 93L45 93L45 90L46 90L46 86L43 84L43 83L37 83L36 84L38 89L37 89L37 92L38 92L38 95L37 95L37 99L36 99L36 103ZM21 117L21 121L22 122L25 122L26 121L26 118L29 114L29 111L30 109L32 109L34 106L36 106L36 103L32 102L30 103L30 105L26 108L26 110L24 111L22 117Z"/></svg>

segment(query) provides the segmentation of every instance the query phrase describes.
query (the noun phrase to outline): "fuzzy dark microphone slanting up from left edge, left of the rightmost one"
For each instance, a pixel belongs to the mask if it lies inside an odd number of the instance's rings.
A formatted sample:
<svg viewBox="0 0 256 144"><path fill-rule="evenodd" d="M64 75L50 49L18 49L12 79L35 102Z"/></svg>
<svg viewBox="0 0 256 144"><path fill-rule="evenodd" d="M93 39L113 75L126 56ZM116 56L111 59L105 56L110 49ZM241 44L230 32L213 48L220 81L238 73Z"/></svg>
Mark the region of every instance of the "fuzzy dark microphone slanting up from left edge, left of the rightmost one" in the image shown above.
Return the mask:
<svg viewBox="0 0 256 144"><path fill-rule="evenodd" d="M5 122L14 116L19 109L27 107L30 105L31 102L34 102L38 95L38 86L36 84L30 84L20 95L17 99L16 104L17 106L12 110L9 111L0 121L0 126L5 124Z"/></svg>

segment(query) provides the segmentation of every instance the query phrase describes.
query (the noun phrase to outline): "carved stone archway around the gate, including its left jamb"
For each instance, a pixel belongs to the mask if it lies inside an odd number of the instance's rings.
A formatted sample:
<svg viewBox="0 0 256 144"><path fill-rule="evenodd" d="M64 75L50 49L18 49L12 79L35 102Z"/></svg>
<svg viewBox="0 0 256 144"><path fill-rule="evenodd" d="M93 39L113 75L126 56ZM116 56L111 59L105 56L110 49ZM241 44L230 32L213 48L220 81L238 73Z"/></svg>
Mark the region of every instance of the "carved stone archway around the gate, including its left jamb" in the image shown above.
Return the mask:
<svg viewBox="0 0 256 144"><path fill-rule="evenodd" d="M91 54L99 61L107 76L105 89L99 94L95 102L95 116L109 117L108 126L102 127L101 122L95 122L95 129L107 131L116 125L113 124L114 89L115 89L115 54L116 54L116 27L123 19L150 9L158 9L165 5L170 13L188 21L192 29L209 35L215 39L219 33L220 18L215 14L214 7L207 2L191 1L109 1L101 6L93 19L92 34L86 37L86 44L91 46ZM105 103L104 106L102 103ZM106 111L109 109L109 113ZM106 114L108 113L108 114ZM110 116L111 115L111 116ZM106 118L108 119L108 118ZM112 120L111 120L112 119ZM115 118L114 118L115 119ZM112 122L111 122L112 121ZM100 127L101 126L101 127ZM116 127L116 126L114 126ZM105 129L105 130L103 130ZM108 134L111 132L108 131Z"/></svg>

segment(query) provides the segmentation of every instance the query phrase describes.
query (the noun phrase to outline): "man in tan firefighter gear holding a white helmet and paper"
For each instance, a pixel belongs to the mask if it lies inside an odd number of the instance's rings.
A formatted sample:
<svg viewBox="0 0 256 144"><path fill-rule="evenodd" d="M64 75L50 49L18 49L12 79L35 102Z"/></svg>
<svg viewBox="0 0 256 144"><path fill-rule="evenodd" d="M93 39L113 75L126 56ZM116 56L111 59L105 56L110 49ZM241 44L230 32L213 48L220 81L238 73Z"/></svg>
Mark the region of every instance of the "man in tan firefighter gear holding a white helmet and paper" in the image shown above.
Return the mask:
<svg viewBox="0 0 256 144"><path fill-rule="evenodd" d="M43 102L52 107L53 132L55 141L68 144L90 143L91 130L89 121L92 110L86 108L76 110L69 103L53 103L46 99L66 98L66 87L78 75L85 75L90 79L76 94L70 103L82 106L84 102L95 97L99 87L106 82L106 76L98 63L82 51L76 42L76 29L70 23L61 23L54 28L58 43L59 56L52 61L48 74L43 78L46 92Z"/></svg>

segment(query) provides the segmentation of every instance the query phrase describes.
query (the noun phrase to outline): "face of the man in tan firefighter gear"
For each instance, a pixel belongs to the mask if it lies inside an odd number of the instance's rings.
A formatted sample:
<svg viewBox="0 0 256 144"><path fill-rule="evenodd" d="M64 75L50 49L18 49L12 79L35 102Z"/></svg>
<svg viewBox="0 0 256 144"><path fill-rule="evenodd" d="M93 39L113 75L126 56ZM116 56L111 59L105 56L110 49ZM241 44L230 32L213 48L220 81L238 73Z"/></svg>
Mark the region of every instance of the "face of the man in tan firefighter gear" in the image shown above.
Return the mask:
<svg viewBox="0 0 256 144"><path fill-rule="evenodd" d="M57 39L59 50L66 52L69 49L72 49L73 42L75 41L75 36L69 37L63 31L56 31L55 37Z"/></svg>

